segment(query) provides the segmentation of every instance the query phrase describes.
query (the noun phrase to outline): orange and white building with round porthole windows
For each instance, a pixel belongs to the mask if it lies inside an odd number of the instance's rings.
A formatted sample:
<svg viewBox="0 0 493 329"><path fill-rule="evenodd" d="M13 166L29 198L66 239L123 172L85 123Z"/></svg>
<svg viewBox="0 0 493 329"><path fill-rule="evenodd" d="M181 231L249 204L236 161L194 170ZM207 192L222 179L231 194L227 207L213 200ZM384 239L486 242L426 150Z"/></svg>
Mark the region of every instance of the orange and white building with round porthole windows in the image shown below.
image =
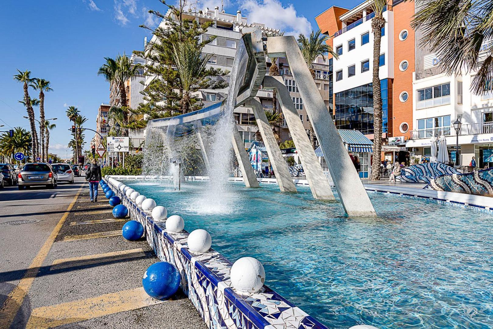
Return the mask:
<svg viewBox="0 0 493 329"><path fill-rule="evenodd" d="M380 86L383 101L382 158L405 161L405 141L413 129L413 71L417 39L410 26L414 1L394 0L383 16ZM333 118L339 129L355 129L373 139L373 48L368 1L347 9L330 7L315 19L338 54L333 59Z"/></svg>

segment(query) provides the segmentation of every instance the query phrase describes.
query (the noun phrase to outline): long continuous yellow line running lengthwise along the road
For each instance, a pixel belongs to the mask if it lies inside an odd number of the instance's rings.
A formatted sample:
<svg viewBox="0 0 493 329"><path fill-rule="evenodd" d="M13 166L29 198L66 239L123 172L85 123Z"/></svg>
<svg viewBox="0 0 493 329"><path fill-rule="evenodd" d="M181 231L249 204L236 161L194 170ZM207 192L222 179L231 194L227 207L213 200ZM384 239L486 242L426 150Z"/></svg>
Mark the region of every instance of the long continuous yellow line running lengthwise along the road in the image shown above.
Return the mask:
<svg viewBox="0 0 493 329"><path fill-rule="evenodd" d="M82 187L83 186L79 188L77 194L73 197L72 202L67 208L67 211L65 212L65 214L63 214L62 218L58 221L57 225L48 236L48 239L46 239L43 246L34 257L33 261L26 271L26 274L24 274L24 277L19 281L14 290L12 290L12 292L8 294L7 299L5 299L5 302L0 309L0 328L9 328L14 321L17 311L19 311L24 298L33 285L33 281L37 273L39 272L39 267L41 267L44 259L46 259L46 256L48 255L53 242L55 242L58 233L60 233L65 220L67 219L67 217L69 217L70 210L73 208L75 201L77 201L77 197L79 196Z"/></svg>

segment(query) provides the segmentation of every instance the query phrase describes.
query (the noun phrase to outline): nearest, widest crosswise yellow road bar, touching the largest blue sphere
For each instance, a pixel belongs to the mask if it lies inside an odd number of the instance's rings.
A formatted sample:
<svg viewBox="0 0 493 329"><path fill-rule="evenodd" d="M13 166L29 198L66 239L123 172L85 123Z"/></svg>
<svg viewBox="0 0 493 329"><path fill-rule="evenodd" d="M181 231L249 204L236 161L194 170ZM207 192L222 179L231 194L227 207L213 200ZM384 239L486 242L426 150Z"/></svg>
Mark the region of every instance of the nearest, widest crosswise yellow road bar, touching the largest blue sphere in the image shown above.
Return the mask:
<svg viewBox="0 0 493 329"><path fill-rule="evenodd" d="M111 292L97 297L35 308L31 311L26 329L53 328L163 302L147 295L142 287Z"/></svg>

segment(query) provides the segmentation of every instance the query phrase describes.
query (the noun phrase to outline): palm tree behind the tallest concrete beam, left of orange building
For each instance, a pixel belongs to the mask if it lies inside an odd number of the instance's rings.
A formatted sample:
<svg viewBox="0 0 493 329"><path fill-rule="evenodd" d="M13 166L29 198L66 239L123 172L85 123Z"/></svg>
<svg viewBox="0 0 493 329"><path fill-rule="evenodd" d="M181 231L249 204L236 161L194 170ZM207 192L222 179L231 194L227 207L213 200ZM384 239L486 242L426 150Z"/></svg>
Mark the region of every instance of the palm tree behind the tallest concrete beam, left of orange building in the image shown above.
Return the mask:
<svg viewBox="0 0 493 329"><path fill-rule="evenodd" d="M332 47L327 44L329 36L322 35L322 32L318 30L317 32L312 31L309 37L305 37L303 34L298 36L298 46L300 47L301 54L305 59L305 62L315 79L315 70L312 68L313 61L317 59L319 55L325 60L325 55L330 54L334 58L338 58L337 54L332 50ZM312 122L308 121L310 127L310 141L312 142L312 147L315 149L315 130L313 129Z"/></svg>

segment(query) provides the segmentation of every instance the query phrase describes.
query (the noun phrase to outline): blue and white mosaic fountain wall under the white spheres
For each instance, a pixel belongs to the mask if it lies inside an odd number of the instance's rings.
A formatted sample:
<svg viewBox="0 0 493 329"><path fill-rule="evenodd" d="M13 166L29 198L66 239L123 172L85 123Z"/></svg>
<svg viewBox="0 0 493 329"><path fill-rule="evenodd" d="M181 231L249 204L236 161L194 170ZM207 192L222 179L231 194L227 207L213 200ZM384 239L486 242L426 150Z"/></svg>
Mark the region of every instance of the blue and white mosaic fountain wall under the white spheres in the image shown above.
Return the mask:
<svg viewBox="0 0 493 329"><path fill-rule="evenodd" d="M156 256L179 270L180 286L208 328L327 329L266 286L249 296L237 294L231 288L232 262L213 249L205 254L193 254L187 247L188 232L166 232L165 221L154 220L116 186L105 181L127 206L131 219L144 226L147 242Z"/></svg>

